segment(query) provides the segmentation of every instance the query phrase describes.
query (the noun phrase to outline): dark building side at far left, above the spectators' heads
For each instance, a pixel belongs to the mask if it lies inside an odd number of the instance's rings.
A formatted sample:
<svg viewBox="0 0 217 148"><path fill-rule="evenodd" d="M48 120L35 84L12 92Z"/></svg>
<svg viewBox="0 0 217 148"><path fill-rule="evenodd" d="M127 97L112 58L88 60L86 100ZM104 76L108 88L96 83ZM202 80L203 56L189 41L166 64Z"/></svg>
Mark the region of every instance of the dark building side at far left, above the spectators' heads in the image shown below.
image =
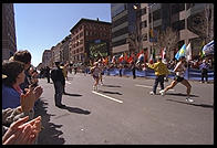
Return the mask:
<svg viewBox="0 0 217 148"><path fill-rule="evenodd" d="M8 60L17 51L13 3L2 3L2 60Z"/></svg>

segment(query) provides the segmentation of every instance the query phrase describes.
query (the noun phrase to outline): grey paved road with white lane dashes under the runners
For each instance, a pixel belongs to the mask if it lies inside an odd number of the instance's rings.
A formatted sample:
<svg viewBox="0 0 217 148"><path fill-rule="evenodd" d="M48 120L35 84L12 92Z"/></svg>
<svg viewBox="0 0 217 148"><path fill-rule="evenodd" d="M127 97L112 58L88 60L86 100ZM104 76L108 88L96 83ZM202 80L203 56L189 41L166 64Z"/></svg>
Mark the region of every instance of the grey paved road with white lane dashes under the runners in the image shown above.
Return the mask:
<svg viewBox="0 0 217 148"><path fill-rule="evenodd" d="M170 81L169 81L170 82ZM65 108L54 106L53 84L40 80L44 93L37 114L42 145L213 145L214 84L193 85L186 103L182 84L167 95L151 96L154 80L105 76L92 92L90 75L70 74ZM165 83L168 85L169 83Z"/></svg>

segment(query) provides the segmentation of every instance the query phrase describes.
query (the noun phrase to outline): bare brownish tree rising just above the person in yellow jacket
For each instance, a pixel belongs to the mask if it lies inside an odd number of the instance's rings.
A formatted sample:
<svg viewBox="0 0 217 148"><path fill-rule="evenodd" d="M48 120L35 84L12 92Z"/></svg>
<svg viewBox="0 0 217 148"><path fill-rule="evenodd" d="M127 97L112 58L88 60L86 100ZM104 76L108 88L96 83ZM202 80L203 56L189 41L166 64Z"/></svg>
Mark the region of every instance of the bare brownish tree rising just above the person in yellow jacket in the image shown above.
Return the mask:
<svg viewBox="0 0 217 148"><path fill-rule="evenodd" d="M166 28L165 31L158 31L157 34L157 42L155 43L157 49L166 47L166 53L172 53L172 51L177 47L177 31L174 31L172 28Z"/></svg>

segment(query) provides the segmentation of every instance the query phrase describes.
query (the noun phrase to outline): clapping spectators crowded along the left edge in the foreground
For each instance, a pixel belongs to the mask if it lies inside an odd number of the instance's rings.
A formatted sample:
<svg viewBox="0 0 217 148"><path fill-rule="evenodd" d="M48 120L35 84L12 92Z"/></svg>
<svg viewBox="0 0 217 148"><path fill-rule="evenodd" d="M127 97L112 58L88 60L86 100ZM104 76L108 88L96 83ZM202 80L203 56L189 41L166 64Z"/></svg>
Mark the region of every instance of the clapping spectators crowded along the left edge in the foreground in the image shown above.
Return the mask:
<svg viewBox="0 0 217 148"><path fill-rule="evenodd" d="M17 51L2 62L2 145L37 144L41 116L35 116L35 103L43 88L38 72L31 65L29 51Z"/></svg>

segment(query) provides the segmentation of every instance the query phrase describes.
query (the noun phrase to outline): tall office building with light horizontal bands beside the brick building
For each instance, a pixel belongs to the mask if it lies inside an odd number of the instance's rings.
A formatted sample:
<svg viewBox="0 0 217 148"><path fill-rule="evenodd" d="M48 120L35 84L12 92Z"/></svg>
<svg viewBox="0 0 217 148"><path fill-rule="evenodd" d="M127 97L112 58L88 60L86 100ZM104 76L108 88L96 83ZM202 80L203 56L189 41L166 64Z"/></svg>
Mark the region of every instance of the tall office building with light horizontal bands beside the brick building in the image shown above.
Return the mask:
<svg viewBox="0 0 217 148"><path fill-rule="evenodd" d="M123 52L135 52L136 46L133 46L133 41L128 42L131 34L135 34L136 27L136 10L135 3L111 3L112 15L112 53L120 55ZM140 18L138 18L140 19Z"/></svg>

